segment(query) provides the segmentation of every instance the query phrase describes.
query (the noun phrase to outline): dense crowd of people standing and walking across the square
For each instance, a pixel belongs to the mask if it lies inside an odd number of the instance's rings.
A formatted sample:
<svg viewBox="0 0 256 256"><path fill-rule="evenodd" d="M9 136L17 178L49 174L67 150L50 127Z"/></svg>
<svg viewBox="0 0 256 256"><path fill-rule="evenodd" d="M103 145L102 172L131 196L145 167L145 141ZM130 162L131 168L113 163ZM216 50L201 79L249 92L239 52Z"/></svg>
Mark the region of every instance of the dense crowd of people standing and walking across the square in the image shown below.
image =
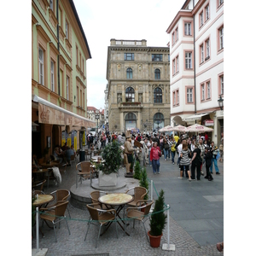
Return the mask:
<svg viewBox="0 0 256 256"><path fill-rule="evenodd" d="M124 141L125 133L113 132L107 136L107 143L111 143L113 140L118 140L120 143L122 138ZM136 141L142 146L138 148ZM187 177L189 181L200 180L201 175L204 175L202 166L205 165L207 170L205 178L212 181L213 166L216 174L220 174L218 158L219 161L223 160L224 133L221 134L219 148L214 142L211 142L207 133L191 137L188 134L183 134L178 137L177 133L167 135L164 132L133 133L131 134L131 147L135 149L133 154L140 165L152 166L154 174L160 174L160 157L163 156L166 161L172 160L172 165L174 165L177 154L180 178Z"/></svg>

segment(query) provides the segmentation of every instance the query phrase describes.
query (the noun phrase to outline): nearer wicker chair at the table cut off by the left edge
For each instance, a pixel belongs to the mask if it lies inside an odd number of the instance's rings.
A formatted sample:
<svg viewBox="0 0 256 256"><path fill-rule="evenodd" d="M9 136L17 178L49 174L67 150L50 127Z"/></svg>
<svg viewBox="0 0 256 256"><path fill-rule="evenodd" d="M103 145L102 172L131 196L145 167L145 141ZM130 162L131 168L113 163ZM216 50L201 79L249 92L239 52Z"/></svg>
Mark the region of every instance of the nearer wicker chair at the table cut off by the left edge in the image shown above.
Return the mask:
<svg viewBox="0 0 256 256"><path fill-rule="evenodd" d="M55 224L60 224L62 220L66 221L67 219L65 216L66 208L67 208L68 201L58 201L57 204L54 207L47 207L47 208L40 208L41 213L40 218L43 220L42 228L44 225L44 221L50 221L53 224L54 230L55 230ZM67 224L67 230L70 235L70 230ZM55 241L57 242L57 236L55 231Z"/></svg>

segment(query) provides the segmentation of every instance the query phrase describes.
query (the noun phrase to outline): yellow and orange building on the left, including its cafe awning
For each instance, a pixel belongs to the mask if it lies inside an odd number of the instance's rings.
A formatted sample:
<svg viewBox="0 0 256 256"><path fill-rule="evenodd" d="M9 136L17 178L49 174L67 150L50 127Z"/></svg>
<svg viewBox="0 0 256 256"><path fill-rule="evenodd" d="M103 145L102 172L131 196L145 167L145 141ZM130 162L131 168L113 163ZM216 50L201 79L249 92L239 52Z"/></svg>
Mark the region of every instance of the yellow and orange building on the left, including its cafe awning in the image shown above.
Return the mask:
<svg viewBox="0 0 256 256"><path fill-rule="evenodd" d="M58 4L58 5L57 5ZM83 147L89 45L74 3L32 0L32 152L42 157L65 142Z"/></svg>

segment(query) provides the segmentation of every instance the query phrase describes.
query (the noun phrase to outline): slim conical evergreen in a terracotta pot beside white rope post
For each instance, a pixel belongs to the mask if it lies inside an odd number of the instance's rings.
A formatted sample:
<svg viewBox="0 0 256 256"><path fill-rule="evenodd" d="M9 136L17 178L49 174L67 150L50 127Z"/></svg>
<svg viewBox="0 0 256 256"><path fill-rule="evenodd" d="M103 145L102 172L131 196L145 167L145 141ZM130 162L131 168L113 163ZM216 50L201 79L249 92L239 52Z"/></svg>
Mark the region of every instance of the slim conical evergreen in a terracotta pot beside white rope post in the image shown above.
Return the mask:
<svg viewBox="0 0 256 256"><path fill-rule="evenodd" d="M166 214L164 212L165 197L164 190L160 190L160 195L154 203L154 210L150 217L150 230L148 231L151 247L160 247L161 236L166 225Z"/></svg>

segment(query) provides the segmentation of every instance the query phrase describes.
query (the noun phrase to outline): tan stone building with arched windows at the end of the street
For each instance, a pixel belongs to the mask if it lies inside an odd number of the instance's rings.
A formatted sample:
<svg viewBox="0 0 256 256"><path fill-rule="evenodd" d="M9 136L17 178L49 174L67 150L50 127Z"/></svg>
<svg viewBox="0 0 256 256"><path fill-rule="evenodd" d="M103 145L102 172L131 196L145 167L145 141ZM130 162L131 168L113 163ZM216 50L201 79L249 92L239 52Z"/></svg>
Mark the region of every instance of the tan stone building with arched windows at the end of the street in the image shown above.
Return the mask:
<svg viewBox="0 0 256 256"><path fill-rule="evenodd" d="M109 131L158 131L170 125L168 47L111 39L107 79Z"/></svg>

